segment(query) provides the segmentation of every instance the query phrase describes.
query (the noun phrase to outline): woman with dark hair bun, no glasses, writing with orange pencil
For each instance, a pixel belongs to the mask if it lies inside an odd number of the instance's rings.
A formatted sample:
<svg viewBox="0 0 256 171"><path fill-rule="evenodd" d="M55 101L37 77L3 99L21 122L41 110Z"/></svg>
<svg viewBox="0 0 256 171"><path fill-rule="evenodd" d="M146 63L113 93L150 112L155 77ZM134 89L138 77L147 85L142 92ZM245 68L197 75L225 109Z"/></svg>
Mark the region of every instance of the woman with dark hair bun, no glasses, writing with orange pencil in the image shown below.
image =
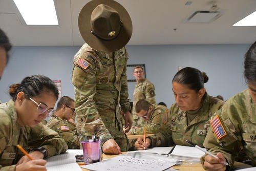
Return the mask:
<svg viewBox="0 0 256 171"><path fill-rule="evenodd" d="M186 139L203 147L210 125L210 117L224 104L224 101L206 93L204 83L208 81L205 73L196 68L186 67L173 78L173 92L176 103L168 113L167 123L159 133L146 138L138 138L137 149L154 146L186 145Z"/></svg>

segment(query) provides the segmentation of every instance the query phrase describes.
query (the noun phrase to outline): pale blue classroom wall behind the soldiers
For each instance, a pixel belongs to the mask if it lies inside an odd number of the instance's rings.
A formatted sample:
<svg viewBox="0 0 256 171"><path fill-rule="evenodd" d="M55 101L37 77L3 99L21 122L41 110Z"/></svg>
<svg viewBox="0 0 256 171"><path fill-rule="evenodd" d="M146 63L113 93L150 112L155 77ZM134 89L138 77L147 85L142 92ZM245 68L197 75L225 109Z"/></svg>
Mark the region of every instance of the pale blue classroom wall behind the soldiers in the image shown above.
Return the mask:
<svg viewBox="0 0 256 171"><path fill-rule="evenodd" d="M130 54L127 64L145 64L146 77L155 84L156 101L168 107L175 102L172 79L178 67L195 67L205 72L208 94L224 99L246 89L243 56L250 45L150 45L126 46ZM10 99L8 87L25 76L43 74L61 80L62 95L74 98L71 83L73 56L80 47L14 47L0 81L0 100ZM132 74L132 73L129 73ZM129 82L133 100L135 82Z"/></svg>

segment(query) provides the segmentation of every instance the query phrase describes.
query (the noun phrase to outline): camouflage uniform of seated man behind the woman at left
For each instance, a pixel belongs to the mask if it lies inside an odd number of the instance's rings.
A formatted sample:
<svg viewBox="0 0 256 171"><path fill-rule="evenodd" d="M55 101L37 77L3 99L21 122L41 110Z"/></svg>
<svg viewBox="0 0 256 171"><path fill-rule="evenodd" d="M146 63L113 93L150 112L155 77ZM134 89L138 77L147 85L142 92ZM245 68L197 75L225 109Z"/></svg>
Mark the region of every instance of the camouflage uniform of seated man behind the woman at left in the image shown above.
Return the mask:
<svg viewBox="0 0 256 171"><path fill-rule="evenodd" d="M46 126L56 131L65 140L69 149L80 149L79 135L75 131L73 132L68 125L67 120L63 120L56 115L51 116L46 124Z"/></svg>

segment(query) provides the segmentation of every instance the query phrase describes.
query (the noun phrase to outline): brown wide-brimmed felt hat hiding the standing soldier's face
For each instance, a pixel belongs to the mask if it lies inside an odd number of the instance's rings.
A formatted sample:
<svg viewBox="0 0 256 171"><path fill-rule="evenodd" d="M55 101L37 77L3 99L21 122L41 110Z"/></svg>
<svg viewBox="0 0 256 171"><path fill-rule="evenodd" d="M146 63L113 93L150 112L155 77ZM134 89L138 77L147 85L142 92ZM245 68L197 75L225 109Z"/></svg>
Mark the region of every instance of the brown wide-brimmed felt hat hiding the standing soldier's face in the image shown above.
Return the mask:
<svg viewBox="0 0 256 171"><path fill-rule="evenodd" d="M133 32L130 15L113 0L93 0L84 5L79 13L78 27L84 41L103 52L121 49Z"/></svg>

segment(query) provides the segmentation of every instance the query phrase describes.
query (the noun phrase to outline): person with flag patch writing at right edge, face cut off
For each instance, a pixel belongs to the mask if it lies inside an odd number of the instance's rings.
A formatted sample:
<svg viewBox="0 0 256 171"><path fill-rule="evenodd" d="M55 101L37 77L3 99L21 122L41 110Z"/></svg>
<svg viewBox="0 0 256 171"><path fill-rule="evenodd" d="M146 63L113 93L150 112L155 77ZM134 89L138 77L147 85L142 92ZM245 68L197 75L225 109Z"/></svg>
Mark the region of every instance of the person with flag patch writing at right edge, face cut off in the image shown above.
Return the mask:
<svg viewBox="0 0 256 171"><path fill-rule="evenodd" d="M211 118L204 146L219 159L202 158L207 170L230 170L234 158L243 147L252 165L256 166L256 41L245 54L244 75L248 89L234 95ZM224 165L224 161L229 166Z"/></svg>

